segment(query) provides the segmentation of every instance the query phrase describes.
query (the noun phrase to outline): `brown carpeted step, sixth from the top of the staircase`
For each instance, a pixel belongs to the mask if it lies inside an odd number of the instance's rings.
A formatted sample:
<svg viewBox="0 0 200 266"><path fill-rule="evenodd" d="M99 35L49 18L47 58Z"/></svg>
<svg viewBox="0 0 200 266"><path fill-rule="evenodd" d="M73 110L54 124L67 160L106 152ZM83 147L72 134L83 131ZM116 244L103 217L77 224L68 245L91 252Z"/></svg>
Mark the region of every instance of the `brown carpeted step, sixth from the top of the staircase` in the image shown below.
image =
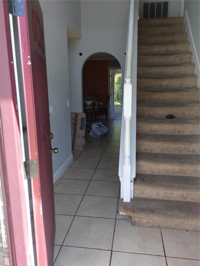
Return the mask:
<svg viewBox="0 0 200 266"><path fill-rule="evenodd" d="M194 67L185 67L185 68L153 68L152 69L143 69L143 70L138 70L137 75L138 77L143 77L143 78L159 78L159 77L178 77L178 76L190 76L194 74Z"/></svg>

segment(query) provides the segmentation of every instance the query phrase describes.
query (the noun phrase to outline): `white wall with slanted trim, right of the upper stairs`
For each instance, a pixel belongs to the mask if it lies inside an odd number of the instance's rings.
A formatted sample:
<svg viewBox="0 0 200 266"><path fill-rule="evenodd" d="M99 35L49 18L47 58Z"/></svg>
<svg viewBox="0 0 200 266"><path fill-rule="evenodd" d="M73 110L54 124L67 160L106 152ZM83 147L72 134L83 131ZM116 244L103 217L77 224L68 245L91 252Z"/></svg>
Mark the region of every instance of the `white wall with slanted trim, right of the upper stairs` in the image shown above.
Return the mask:
<svg viewBox="0 0 200 266"><path fill-rule="evenodd" d="M190 51L192 52L192 62L195 63L194 74L198 76L197 88L200 87L200 69L199 69L199 58L200 58L200 45L199 45L199 11L200 1L185 1L184 11L187 13L187 19L185 16L184 23L186 23L186 31L188 33L187 40L190 42Z"/></svg>

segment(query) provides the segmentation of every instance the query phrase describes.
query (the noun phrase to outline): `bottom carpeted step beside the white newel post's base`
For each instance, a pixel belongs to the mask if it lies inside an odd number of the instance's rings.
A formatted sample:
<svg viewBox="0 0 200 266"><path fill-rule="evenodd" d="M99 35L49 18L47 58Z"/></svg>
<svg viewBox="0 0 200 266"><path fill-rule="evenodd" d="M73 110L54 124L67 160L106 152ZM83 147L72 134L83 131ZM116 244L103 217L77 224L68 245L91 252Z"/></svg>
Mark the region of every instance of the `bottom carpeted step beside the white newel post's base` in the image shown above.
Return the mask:
<svg viewBox="0 0 200 266"><path fill-rule="evenodd" d="M135 197L120 199L119 210L132 216L133 226L199 231L199 203Z"/></svg>

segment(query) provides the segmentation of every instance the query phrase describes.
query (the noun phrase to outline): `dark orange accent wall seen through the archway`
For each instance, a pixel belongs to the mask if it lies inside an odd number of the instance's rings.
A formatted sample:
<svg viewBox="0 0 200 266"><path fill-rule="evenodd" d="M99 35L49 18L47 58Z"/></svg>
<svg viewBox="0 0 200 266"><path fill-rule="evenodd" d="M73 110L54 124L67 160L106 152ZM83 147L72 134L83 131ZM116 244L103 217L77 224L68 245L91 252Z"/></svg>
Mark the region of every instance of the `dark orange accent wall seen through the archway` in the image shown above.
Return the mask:
<svg viewBox="0 0 200 266"><path fill-rule="evenodd" d="M98 102L105 103L108 94L107 60L86 61L83 67L83 97L92 95Z"/></svg>

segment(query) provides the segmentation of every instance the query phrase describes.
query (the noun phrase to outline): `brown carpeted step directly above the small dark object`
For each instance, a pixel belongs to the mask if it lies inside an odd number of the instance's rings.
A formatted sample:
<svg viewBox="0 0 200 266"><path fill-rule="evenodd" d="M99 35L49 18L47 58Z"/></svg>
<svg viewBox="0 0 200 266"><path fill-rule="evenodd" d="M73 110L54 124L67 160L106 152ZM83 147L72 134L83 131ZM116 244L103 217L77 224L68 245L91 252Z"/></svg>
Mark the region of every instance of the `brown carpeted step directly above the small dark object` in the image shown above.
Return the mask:
<svg viewBox="0 0 200 266"><path fill-rule="evenodd" d="M137 117L199 117L199 103L137 103Z"/></svg>

